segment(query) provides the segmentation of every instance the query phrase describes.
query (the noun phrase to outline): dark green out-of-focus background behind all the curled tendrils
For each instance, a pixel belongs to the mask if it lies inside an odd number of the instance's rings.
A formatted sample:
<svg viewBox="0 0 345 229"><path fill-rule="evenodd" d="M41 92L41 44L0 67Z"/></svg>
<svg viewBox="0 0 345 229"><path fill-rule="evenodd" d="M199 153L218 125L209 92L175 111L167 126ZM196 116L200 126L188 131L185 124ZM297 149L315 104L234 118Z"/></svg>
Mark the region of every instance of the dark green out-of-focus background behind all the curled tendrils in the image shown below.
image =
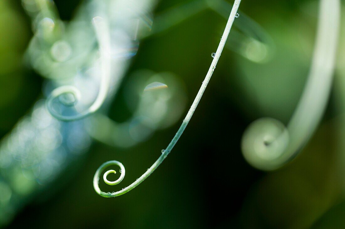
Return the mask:
<svg viewBox="0 0 345 229"><path fill-rule="evenodd" d="M61 19L68 21L82 1L55 2ZM155 11L184 2L161 1ZM254 63L224 50L188 128L153 175L116 198L102 198L92 187L93 174L108 160L126 165L124 186L130 184L157 159L182 119L129 149L94 142L75 165L20 209L8 227L344 228L344 29L325 117L300 156L267 173L250 167L240 151L249 123L267 116L286 124L291 117L311 64L317 7L315 0L243 0L240 10L272 36L274 56ZM142 68L175 73L191 104L225 23L206 10L144 39L129 73ZM0 1L1 137L42 96L42 77L23 59L32 36L30 24L19 0ZM130 115L125 103L128 80L124 78L109 112L119 122Z"/></svg>

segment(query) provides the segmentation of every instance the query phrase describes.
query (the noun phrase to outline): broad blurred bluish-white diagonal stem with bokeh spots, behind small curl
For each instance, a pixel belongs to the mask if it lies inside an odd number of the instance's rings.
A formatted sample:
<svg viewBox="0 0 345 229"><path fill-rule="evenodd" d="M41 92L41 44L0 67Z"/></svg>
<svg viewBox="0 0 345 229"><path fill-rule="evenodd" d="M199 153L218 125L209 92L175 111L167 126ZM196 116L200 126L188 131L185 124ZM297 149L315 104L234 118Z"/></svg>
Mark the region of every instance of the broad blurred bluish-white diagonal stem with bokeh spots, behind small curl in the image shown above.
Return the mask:
<svg viewBox="0 0 345 229"><path fill-rule="evenodd" d="M7 11L7 5L12 8L11 3L10 0L0 1L1 13ZM98 15L110 24L111 63L116 66L112 69L108 85L107 98L110 100L128 70L129 57L135 53L133 49L137 49L135 45L138 42L134 42L131 35L136 34L137 30L140 32L142 23L140 21L133 28L133 19L141 19L142 12L150 14L155 3L156 0L82 1L75 16L68 22L62 22L52 0L22 0L23 8L31 17L33 32L24 57L27 64L45 78L43 95L50 95L56 85L71 84L77 86L82 96L76 108L85 110L81 109L82 106L86 107L95 101L102 69L102 58L99 58L102 49L99 51L98 46L102 42L99 41L97 45L95 29L90 22ZM14 5L13 11L17 12ZM17 13L6 13L0 24L12 26L14 34L23 35L19 27L25 29L26 24L17 23L17 19L22 20L21 12ZM150 26L150 18L145 20L147 26L144 25L143 30ZM11 39L10 35L6 37ZM12 46L12 43L3 44ZM18 56L21 52L22 46ZM12 61L12 58L9 60ZM20 72L18 74L22 74ZM67 89L73 90L72 87ZM70 106L80 96L77 90L75 93L64 94L56 99L60 107L63 107L63 103L68 105L63 111L74 111ZM107 105L109 103L105 104L104 110ZM44 192L45 198L52 197L55 189L51 184L63 171L71 172L70 167L77 168L82 164L78 159L89 151L91 144L91 138L85 130L88 120L63 123L51 116L46 109L46 100L40 99L30 114L19 120L13 130L3 137L0 141L0 228L13 220L14 215L35 196Z"/></svg>

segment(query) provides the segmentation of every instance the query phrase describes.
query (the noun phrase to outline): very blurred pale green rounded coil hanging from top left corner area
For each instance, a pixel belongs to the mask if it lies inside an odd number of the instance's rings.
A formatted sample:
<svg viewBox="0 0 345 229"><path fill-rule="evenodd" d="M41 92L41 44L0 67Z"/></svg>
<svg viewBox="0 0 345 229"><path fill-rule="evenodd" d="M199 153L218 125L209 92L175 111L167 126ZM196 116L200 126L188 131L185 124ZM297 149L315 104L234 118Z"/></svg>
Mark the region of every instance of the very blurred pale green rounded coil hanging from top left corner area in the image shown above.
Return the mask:
<svg viewBox="0 0 345 229"><path fill-rule="evenodd" d="M22 5L32 19L34 33L26 61L45 78L66 80L75 76L95 47L89 22L62 22L52 0L22 0ZM80 36L91 39L81 40Z"/></svg>

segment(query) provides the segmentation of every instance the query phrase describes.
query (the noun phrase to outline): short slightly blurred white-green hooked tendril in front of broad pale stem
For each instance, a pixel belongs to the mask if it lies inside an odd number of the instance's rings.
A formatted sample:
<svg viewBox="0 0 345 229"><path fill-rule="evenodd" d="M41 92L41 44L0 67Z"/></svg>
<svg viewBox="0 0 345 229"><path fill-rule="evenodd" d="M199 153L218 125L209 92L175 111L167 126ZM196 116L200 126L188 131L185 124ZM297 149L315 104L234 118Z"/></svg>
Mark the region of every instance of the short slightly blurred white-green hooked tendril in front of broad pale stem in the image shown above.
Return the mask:
<svg viewBox="0 0 345 229"><path fill-rule="evenodd" d="M80 91L75 86L61 86L54 89L51 95L47 99L47 108L51 115L62 121L73 121L85 118L89 114L97 111L103 102L105 101L108 94L109 80L110 80L110 35L109 26L105 19L101 17L95 17L92 19L92 24L95 28L96 37L100 46L100 59L101 59L101 82L97 98L92 105L83 112L78 112L71 116L61 114L54 109L53 101L59 99L62 105L71 107L80 100Z"/></svg>

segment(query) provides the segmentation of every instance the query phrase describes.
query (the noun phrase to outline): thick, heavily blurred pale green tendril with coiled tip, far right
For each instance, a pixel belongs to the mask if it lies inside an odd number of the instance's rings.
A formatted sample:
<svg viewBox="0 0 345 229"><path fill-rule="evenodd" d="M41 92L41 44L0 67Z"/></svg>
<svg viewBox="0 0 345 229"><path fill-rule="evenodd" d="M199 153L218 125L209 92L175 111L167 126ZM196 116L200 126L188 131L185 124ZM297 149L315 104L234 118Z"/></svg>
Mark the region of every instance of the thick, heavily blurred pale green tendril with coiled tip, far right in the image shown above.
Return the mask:
<svg viewBox="0 0 345 229"><path fill-rule="evenodd" d="M272 118L249 125L242 152L252 166L274 170L293 160L311 138L324 113L332 86L339 32L340 1L321 0L316 43L308 80L287 127Z"/></svg>

